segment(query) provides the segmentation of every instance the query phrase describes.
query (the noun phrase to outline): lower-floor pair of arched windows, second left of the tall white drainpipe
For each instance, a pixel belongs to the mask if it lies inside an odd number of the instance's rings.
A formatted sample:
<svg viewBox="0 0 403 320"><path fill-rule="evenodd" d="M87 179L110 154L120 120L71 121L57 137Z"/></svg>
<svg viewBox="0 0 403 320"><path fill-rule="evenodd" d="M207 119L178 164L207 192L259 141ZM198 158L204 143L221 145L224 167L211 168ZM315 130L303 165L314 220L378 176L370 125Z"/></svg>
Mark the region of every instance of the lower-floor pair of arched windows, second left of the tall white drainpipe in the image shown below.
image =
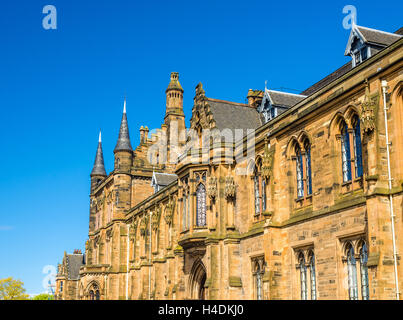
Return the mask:
<svg viewBox="0 0 403 320"><path fill-rule="evenodd" d="M316 270L313 250L298 254L299 278L301 285L301 300L316 300Z"/></svg>

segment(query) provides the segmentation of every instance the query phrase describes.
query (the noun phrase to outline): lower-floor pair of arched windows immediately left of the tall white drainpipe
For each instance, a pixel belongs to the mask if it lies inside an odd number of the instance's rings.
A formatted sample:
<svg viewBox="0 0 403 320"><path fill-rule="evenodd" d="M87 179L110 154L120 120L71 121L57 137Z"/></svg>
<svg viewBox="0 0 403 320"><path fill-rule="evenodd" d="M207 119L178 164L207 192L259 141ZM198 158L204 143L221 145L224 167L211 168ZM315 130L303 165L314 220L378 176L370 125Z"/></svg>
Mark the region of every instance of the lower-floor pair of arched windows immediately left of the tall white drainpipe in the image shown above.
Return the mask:
<svg viewBox="0 0 403 320"><path fill-rule="evenodd" d="M360 291L362 300L369 300L367 244L362 241L356 251L353 243L348 242L345 246L345 261L347 263L348 294L350 300L359 299L358 281L360 281L361 285ZM357 265L359 275L357 272Z"/></svg>

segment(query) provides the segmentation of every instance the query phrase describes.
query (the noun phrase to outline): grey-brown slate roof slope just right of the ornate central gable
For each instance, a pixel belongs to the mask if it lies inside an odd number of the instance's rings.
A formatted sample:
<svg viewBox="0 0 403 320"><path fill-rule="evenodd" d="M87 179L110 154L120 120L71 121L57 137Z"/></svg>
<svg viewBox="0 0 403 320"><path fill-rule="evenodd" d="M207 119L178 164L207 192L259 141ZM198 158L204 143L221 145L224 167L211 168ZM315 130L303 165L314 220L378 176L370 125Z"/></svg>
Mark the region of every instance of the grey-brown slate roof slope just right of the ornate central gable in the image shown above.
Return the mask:
<svg viewBox="0 0 403 320"><path fill-rule="evenodd" d="M256 129L263 124L260 114L249 105L212 98L206 99L219 130L243 129L245 134L247 129Z"/></svg>

